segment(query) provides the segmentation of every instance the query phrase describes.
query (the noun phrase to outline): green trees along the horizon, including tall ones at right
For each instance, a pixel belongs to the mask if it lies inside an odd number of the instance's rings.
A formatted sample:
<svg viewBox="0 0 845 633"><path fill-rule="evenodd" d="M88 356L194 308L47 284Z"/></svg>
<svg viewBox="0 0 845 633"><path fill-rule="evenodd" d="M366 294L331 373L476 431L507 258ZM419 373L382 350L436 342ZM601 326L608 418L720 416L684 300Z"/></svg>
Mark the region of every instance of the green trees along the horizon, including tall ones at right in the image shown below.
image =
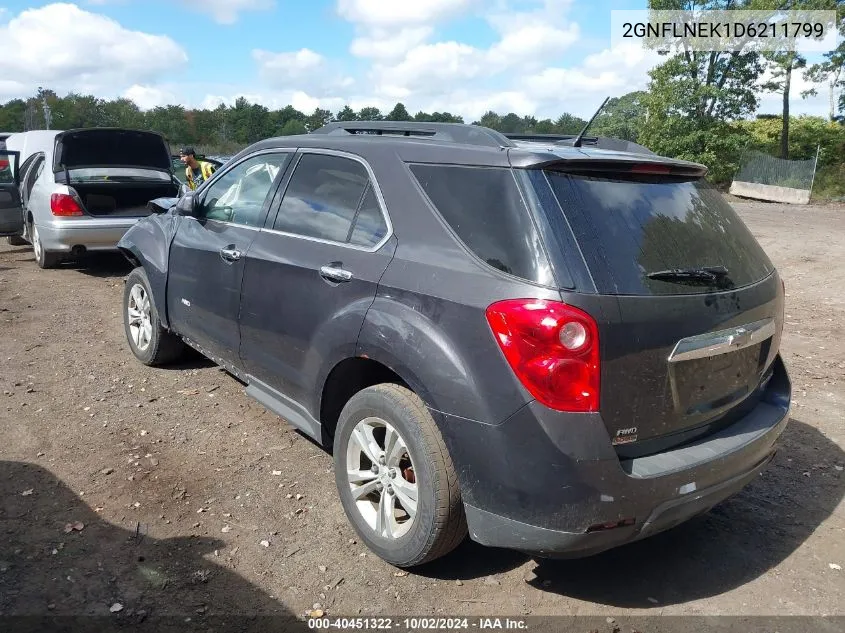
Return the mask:
<svg viewBox="0 0 845 633"><path fill-rule="evenodd" d="M723 9L724 0L649 0L651 9ZM649 72L645 90L616 96L596 118L590 134L638 142L666 156L704 163L714 182L729 182L749 148L782 158L811 158L819 146L822 188L845 195L845 0L731 0L734 9L836 9L840 43L821 62L808 65L796 52L684 50L664 55ZM830 112L823 117L792 117L789 112L796 73L812 82L800 96L827 91ZM767 76L766 81L763 77ZM754 119L762 92L782 97L777 116ZM774 119L778 119L774 122ZM231 153L271 136L302 134L330 121L387 120L464 123L449 112L410 114L397 103L389 112L344 106L338 112L317 108L311 113L293 106L271 110L241 97L231 106L190 109L168 105L143 111L129 99L106 100L92 95L59 96L40 89L28 99L0 106L0 131L119 126L163 133L172 144L192 144L206 153ZM575 134L585 121L564 112L557 118L537 119L513 112L486 112L471 123L502 132ZM795 126L798 126L796 129ZM791 137L798 134L800 143ZM837 184L839 183L839 184Z"/></svg>

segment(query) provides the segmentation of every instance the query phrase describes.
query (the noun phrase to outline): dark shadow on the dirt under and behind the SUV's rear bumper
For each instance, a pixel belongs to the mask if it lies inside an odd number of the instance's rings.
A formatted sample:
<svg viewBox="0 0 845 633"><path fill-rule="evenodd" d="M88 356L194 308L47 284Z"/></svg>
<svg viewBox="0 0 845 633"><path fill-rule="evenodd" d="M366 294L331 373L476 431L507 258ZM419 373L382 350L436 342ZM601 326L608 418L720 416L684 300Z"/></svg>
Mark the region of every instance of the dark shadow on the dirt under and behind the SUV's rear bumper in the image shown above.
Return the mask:
<svg viewBox="0 0 845 633"><path fill-rule="evenodd" d="M845 473L835 465L845 465L845 453L815 427L792 419L759 480L706 515L589 558L538 559L530 584L619 608L725 593L780 564L834 512L845 496ZM416 571L441 579L479 578L526 560L467 541Z"/></svg>

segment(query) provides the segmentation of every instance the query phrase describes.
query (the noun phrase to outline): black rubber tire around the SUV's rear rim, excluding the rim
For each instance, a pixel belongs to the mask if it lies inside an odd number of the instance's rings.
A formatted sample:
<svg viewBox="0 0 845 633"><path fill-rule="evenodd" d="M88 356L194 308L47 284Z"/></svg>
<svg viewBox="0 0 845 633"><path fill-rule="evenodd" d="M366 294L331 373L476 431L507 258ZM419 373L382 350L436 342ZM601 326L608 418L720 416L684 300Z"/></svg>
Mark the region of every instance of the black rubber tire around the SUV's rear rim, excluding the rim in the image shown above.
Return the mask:
<svg viewBox="0 0 845 633"><path fill-rule="evenodd" d="M417 510L407 533L382 536L367 524L347 477L347 447L366 418L386 421L404 440L417 484ZM346 516L367 546L397 567L414 567L445 556L466 538L467 524L455 466L431 414L412 391L394 384L355 394L340 414L334 442L335 480Z"/></svg>

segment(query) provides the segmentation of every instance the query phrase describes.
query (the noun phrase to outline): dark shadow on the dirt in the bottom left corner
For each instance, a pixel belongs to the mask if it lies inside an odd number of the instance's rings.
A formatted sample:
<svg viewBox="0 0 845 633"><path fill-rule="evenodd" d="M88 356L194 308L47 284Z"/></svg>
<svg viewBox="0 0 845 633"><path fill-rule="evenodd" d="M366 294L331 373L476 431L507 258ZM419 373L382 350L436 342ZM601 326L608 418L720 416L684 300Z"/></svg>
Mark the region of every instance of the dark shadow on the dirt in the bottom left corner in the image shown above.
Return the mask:
<svg viewBox="0 0 845 633"><path fill-rule="evenodd" d="M66 525L75 522L82 530L68 532ZM155 539L140 527L102 520L40 466L0 461L0 629L307 628L283 604L214 562L222 541Z"/></svg>

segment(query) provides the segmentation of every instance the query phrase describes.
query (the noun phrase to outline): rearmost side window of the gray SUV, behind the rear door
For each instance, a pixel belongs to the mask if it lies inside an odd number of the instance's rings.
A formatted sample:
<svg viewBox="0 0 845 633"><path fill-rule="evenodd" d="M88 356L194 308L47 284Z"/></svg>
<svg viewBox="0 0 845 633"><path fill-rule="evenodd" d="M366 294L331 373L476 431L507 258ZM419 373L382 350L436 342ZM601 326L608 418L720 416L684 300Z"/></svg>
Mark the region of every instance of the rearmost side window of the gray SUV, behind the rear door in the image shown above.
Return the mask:
<svg viewBox="0 0 845 633"><path fill-rule="evenodd" d="M432 205L479 259L510 275L553 285L537 228L510 169L411 165Z"/></svg>

